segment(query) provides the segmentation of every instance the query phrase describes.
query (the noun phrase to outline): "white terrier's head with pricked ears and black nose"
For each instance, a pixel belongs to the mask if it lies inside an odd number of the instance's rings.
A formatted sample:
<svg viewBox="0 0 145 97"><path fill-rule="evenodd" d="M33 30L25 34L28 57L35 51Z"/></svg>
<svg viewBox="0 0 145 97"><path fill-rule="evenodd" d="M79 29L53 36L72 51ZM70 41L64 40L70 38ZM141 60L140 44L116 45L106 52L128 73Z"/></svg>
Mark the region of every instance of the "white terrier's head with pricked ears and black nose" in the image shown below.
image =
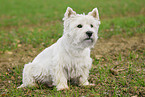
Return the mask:
<svg viewBox="0 0 145 97"><path fill-rule="evenodd" d="M68 7L64 14L64 33L71 45L78 48L93 47L98 38L99 13L97 8L85 14L76 14Z"/></svg>

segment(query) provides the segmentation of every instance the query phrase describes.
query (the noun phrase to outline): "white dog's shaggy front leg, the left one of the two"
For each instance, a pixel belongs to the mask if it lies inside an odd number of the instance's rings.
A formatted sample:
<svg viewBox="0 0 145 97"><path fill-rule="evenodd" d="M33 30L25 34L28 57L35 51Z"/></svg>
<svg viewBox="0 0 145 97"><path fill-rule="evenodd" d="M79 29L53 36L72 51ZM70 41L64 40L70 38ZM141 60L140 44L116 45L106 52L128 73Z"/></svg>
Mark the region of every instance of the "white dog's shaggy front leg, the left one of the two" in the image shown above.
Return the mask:
<svg viewBox="0 0 145 97"><path fill-rule="evenodd" d="M56 84L57 91L69 89L67 85L67 78L62 68L56 71L54 78L54 83Z"/></svg>

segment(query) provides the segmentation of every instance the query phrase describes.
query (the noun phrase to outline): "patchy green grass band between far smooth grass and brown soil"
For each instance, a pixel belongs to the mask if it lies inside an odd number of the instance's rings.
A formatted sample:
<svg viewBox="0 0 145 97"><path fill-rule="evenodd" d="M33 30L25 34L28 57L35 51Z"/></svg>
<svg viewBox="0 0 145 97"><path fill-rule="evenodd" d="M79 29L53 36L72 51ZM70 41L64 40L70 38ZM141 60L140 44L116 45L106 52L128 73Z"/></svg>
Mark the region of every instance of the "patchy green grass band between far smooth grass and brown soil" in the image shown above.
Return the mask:
<svg viewBox="0 0 145 97"><path fill-rule="evenodd" d="M143 15L103 20L100 25L99 37L108 38L117 34L133 35L134 33L144 33L144 21ZM16 48L18 43L32 44L34 47L44 44L47 47L61 37L63 33L62 24L62 22L59 22L49 26L18 27L9 32L1 31L1 50Z"/></svg>

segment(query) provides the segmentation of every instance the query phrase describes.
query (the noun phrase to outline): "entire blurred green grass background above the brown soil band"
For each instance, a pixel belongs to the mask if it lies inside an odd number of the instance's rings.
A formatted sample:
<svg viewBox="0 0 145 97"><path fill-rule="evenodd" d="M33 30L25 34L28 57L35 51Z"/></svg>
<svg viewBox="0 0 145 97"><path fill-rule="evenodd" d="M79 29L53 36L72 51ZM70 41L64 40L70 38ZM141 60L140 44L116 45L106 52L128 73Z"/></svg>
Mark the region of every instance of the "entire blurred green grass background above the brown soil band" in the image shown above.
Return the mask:
<svg viewBox="0 0 145 97"><path fill-rule="evenodd" d="M101 37L143 33L144 4L144 0L0 0L1 50L14 48L17 42L35 46L42 42L49 45L52 38L56 41L62 34L62 18L68 6L79 14L97 7Z"/></svg>

